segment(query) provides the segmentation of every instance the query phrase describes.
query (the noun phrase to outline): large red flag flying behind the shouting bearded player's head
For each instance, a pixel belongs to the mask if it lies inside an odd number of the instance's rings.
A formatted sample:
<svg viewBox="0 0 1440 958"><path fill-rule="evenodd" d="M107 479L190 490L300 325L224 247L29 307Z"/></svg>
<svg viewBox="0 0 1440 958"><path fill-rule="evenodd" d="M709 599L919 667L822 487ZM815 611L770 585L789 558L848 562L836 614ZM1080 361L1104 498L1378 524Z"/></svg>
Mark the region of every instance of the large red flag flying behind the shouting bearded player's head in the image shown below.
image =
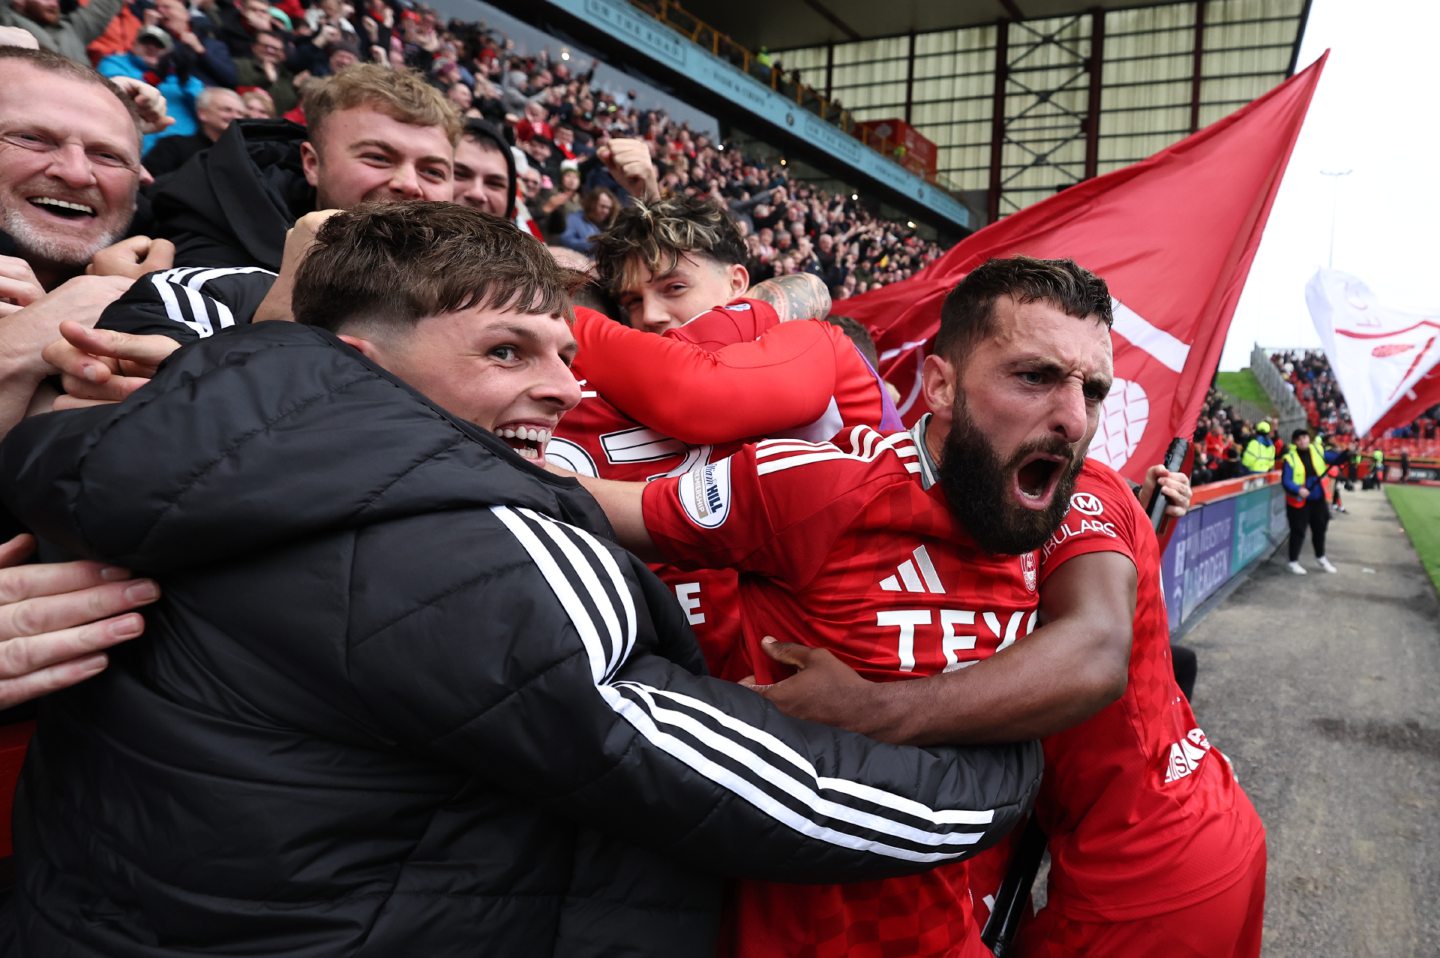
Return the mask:
<svg viewBox="0 0 1440 958"><path fill-rule="evenodd" d="M1142 480L1195 428L1323 65L1148 160L981 229L904 282L837 303L834 313L876 333L906 422L924 412L920 363L965 274L995 256L1074 259L1117 301L1115 388L1090 455Z"/></svg>

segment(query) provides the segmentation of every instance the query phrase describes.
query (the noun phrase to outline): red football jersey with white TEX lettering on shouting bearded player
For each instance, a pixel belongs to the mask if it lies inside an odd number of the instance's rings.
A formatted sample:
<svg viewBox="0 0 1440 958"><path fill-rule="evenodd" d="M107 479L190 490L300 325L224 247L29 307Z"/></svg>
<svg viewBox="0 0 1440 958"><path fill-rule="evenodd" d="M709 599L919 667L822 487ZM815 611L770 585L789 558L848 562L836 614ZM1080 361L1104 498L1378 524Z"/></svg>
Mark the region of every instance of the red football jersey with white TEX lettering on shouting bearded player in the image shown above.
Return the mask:
<svg viewBox="0 0 1440 958"><path fill-rule="evenodd" d="M923 428L917 426L917 428ZM652 483L645 526L677 565L740 570L743 643L724 677L778 681L760 638L828 648L873 680L963 668L1035 624L1035 556L984 553L909 432L772 439ZM884 882L742 882L739 954L973 952L966 866ZM984 951L978 954L985 954Z"/></svg>

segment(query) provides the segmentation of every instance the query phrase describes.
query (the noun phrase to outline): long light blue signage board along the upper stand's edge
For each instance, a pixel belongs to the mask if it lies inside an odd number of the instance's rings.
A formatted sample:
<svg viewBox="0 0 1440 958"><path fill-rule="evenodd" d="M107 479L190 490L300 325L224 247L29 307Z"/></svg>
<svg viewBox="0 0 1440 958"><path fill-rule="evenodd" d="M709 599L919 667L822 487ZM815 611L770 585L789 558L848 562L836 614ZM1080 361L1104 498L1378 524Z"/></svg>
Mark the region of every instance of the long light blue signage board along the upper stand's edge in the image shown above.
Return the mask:
<svg viewBox="0 0 1440 958"><path fill-rule="evenodd" d="M788 97L782 97L670 27L638 13L629 4L615 0L546 0L546 6L606 32L636 55L681 73L778 130L814 144L865 179L923 203L949 223L972 229L971 212L940 187L926 183L838 127L801 109Z"/></svg>

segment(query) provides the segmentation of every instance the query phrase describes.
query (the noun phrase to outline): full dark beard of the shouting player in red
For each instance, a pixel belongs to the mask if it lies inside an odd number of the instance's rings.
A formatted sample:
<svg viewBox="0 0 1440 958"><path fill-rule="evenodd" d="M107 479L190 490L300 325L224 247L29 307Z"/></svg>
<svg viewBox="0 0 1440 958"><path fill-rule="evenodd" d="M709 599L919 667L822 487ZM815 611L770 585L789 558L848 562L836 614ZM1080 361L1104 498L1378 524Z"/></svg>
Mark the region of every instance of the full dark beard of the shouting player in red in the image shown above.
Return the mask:
<svg viewBox="0 0 1440 958"><path fill-rule="evenodd" d="M1015 474L1037 452L1060 457L1061 470L1054 497L1043 510L1025 509L1011 494ZM940 455L939 483L945 501L981 549L998 555L1021 555L1045 545L1070 510L1070 494L1084 458L1060 437L1032 439L1008 461L991 445L971 419L963 399L952 409L950 434Z"/></svg>

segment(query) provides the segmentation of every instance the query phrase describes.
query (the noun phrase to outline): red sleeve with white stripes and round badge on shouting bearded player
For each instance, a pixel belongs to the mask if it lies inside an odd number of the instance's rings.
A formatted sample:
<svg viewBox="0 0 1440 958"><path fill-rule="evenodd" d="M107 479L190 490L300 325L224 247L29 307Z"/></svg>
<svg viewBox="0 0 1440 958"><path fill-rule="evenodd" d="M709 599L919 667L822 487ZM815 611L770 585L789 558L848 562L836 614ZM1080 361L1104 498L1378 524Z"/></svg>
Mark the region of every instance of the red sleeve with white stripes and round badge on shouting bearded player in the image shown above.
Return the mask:
<svg viewBox="0 0 1440 958"><path fill-rule="evenodd" d="M802 588L824 568L829 545L896 481L909 481L907 474L858 462L828 442L772 439L649 483L645 529L674 565L737 569Z"/></svg>

